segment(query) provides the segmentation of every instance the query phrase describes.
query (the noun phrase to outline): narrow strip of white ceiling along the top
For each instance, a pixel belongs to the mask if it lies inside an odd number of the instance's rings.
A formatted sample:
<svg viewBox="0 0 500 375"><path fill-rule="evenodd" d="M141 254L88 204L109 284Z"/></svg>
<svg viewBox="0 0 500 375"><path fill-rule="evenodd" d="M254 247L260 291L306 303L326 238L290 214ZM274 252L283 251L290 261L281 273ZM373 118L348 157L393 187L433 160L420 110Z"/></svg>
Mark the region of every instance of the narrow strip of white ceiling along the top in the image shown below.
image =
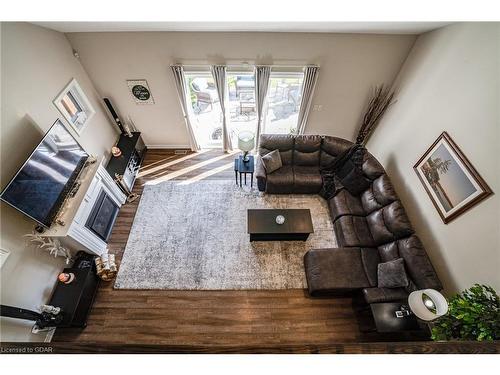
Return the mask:
<svg viewBox="0 0 500 375"><path fill-rule="evenodd" d="M117 31L229 31L421 34L449 22L33 22L64 33Z"/></svg>

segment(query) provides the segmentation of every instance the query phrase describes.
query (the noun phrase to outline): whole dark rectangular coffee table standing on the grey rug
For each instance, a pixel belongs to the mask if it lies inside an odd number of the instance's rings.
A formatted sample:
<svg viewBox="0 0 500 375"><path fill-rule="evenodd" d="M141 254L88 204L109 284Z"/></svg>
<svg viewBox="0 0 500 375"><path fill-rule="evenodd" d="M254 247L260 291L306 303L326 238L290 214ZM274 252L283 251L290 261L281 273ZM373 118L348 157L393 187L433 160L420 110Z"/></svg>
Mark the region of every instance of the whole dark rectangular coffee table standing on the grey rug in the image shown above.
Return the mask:
<svg viewBox="0 0 500 375"><path fill-rule="evenodd" d="M283 224L276 216L285 217ZM314 233L311 211L308 209L248 210L248 233L252 241L306 241Z"/></svg>

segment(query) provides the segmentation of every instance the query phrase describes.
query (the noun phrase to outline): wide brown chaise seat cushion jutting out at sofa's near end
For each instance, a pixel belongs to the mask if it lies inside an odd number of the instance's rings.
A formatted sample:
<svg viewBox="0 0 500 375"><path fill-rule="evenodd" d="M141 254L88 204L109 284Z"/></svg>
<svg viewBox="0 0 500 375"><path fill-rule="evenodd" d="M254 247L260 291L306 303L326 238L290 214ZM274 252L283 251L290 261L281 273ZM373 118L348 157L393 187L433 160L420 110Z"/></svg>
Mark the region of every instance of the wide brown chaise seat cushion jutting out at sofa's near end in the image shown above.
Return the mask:
<svg viewBox="0 0 500 375"><path fill-rule="evenodd" d="M360 249L312 249L304 256L310 295L350 291L370 286Z"/></svg>

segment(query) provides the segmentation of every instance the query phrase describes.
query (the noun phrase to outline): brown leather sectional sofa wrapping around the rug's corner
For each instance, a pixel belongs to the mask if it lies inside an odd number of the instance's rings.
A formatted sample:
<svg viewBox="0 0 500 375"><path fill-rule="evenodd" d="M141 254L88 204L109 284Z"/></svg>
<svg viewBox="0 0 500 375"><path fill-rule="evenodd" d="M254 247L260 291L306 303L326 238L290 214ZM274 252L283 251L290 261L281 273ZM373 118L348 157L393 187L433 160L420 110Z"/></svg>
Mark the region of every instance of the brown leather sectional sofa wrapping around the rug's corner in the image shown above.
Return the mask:
<svg viewBox="0 0 500 375"><path fill-rule="evenodd" d="M259 156L278 149L283 167L266 174L257 157L257 186L270 194L317 194L320 168L352 145L329 136L263 134ZM310 295L361 289L366 302L376 303L405 298L415 289L442 289L384 168L367 152L362 170L371 181L364 192L353 196L338 186L328 201L340 248L311 249L304 257ZM408 287L377 287L378 264L397 258L404 259Z"/></svg>

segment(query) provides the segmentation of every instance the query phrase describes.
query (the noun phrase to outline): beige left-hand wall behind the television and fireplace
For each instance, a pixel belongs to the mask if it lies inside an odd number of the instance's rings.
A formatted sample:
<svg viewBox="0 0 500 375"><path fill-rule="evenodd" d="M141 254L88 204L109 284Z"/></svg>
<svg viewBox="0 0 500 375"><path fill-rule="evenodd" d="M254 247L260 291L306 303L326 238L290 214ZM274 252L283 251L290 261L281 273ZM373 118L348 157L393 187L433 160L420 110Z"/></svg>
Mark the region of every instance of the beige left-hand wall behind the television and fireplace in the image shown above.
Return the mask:
<svg viewBox="0 0 500 375"><path fill-rule="evenodd" d="M72 79L80 83L97 113L78 141L90 153L107 154L117 132L100 107L92 83L62 33L26 23L1 24L1 187L3 188L62 115L52 100ZM68 126L69 127L69 126ZM61 259L26 248L22 235L33 222L8 205L0 205L0 247L11 254L1 269L2 304L36 310L47 302ZM1 318L2 341L40 341L32 323Z"/></svg>

